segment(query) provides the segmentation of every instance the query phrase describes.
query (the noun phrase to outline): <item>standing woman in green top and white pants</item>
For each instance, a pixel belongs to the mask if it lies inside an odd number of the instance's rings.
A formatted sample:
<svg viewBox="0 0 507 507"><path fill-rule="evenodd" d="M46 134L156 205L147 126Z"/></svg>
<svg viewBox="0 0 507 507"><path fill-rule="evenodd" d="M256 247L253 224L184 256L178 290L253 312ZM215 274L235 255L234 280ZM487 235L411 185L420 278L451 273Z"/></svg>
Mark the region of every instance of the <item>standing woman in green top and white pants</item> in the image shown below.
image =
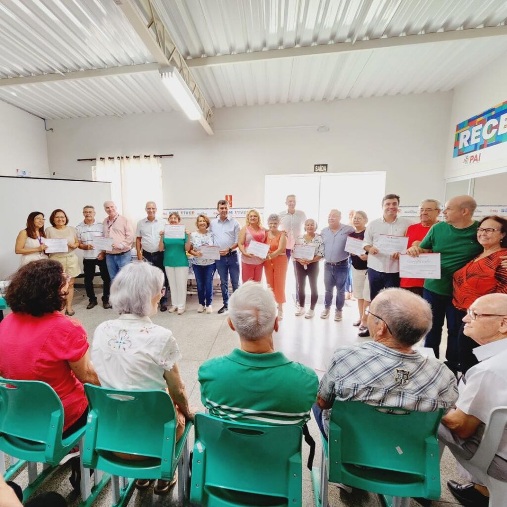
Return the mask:
<svg viewBox="0 0 507 507"><path fill-rule="evenodd" d="M167 218L169 225L179 225L181 218L176 211ZM160 250L164 250L164 267L169 281L171 293L170 312L185 313L187 301L187 279L189 274L189 261L187 252L190 250L190 235L185 231L185 238L166 238L164 231L160 232Z"/></svg>

